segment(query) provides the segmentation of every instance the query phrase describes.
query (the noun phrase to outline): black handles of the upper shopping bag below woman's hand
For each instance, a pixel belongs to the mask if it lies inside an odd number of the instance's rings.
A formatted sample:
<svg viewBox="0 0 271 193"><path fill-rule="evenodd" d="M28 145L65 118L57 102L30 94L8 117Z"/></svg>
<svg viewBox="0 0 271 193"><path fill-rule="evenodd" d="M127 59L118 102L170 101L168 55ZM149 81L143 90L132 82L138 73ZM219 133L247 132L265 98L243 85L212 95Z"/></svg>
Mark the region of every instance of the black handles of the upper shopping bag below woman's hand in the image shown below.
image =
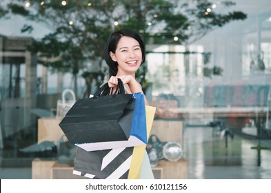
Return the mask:
<svg viewBox="0 0 271 193"><path fill-rule="evenodd" d="M118 85L117 85L117 89L114 91L114 93L112 93L113 88L110 88L108 83L105 83L104 85L101 86L101 88L99 88L99 90L97 90L94 93L94 98L97 98L98 96L107 96L107 95L116 95L116 94L124 94L124 85L123 82L121 81L121 79L118 78Z"/></svg>

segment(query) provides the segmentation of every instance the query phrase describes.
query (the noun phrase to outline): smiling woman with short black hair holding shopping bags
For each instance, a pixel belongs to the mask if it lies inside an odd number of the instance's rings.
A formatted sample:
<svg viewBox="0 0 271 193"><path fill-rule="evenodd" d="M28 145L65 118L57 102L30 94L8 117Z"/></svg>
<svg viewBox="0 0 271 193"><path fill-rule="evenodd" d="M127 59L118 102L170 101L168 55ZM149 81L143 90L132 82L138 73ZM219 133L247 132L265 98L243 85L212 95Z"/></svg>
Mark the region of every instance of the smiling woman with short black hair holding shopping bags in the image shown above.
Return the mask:
<svg viewBox="0 0 271 193"><path fill-rule="evenodd" d="M106 63L112 71L108 81L111 88L116 88L118 79L124 84L127 93L141 92L142 88L137 82L135 73L145 61L145 45L137 32L123 29L113 32L106 44ZM145 104L148 104L145 98ZM147 152L143 156L140 179L154 179Z"/></svg>

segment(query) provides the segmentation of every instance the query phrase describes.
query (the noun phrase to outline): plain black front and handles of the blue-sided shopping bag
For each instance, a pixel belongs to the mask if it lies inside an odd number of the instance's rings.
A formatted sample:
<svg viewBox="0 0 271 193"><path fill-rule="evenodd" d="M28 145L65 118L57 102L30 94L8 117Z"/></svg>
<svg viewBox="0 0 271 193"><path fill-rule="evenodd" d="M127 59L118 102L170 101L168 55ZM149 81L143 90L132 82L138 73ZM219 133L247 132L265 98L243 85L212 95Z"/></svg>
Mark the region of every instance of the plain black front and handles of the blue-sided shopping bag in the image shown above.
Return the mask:
<svg viewBox="0 0 271 193"><path fill-rule="evenodd" d="M73 143L126 141L130 136L135 99L124 94L123 83L112 95L108 83L92 98L79 99L59 123Z"/></svg>

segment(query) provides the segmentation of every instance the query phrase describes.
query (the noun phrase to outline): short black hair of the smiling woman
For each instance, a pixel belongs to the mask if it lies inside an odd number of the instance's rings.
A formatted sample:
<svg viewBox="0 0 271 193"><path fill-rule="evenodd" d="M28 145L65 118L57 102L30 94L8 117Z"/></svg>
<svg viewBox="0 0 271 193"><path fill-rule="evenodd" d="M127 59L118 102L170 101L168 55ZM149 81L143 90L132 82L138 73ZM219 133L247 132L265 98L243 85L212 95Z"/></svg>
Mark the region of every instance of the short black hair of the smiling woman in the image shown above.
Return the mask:
<svg viewBox="0 0 271 193"><path fill-rule="evenodd" d="M134 32L133 30L130 30L130 29L122 29L116 32L112 32L112 34L110 34L110 37L108 38L108 41L106 43L105 59L106 59L106 63L108 64L111 70L110 74L113 76L117 75L118 63L116 61L112 61L110 57L110 52L112 53L116 52L119 39L121 39L121 37L123 36L132 37L133 39L139 42L139 46L142 52L142 63L145 62L145 44L143 43L143 40L141 39L140 35L137 32Z"/></svg>

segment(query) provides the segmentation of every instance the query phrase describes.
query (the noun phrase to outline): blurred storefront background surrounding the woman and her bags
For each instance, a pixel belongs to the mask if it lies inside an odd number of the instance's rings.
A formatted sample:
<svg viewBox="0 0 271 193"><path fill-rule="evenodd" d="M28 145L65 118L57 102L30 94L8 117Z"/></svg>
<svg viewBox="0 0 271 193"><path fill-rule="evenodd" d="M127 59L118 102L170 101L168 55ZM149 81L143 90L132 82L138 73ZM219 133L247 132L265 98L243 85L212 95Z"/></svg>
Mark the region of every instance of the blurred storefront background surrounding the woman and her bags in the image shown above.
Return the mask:
<svg viewBox="0 0 271 193"><path fill-rule="evenodd" d="M156 177L271 179L269 0L1 1L0 178L76 177L58 123L109 79L103 48L121 28L146 45Z"/></svg>

